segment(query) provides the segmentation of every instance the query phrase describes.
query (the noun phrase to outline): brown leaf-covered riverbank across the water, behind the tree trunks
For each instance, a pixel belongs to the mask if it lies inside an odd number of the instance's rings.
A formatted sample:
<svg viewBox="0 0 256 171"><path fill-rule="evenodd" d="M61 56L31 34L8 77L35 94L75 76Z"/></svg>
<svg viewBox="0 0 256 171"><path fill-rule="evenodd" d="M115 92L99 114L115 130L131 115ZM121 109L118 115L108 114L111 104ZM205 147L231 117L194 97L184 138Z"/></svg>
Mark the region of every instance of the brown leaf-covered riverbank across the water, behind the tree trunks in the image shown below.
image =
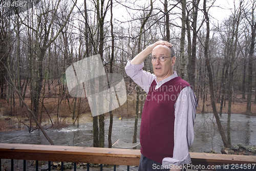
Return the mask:
<svg viewBox="0 0 256 171"><path fill-rule="evenodd" d="M70 99L72 101L72 99ZM29 112L25 108L19 108L18 107L18 99L16 100L16 107L14 112L10 112L10 104L7 104L6 101L1 100L1 108L0 108L0 132L3 131L15 131L20 129L25 129L27 126L30 125L30 119L29 119ZM26 99L26 102L29 104L30 99ZM65 127L70 124L73 124L76 121L77 114L75 116L75 120L72 119L73 112L71 109L73 109L73 106L68 104L66 101L64 101L59 106L59 112L58 116L59 119L57 119L57 108L56 108L56 99L55 98L48 98L45 100L45 109L48 110L48 113L44 110L42 112L42 124L43 125L52 125L54 127ZM223 114L226 114L228 112L228 102L226 101L226 106L223 106ZM30 105L30 104L29 104ZM80 109L80 115L79 115L79 123L88 123L92 122L92 114L90 112L90 108L88 108L86 102L81 101L81 109ZM198 101L198 108L197 113L202 112L203 107L203 100L200 98ZM216 103L217 111L220 110L220 103ZM39 108L40 109L40 108ZM49 113L50 111L50 113ZM135 111L136 111L136 101L128 100L128 103L124 103L120 108L113 111L113 115L116 118L135 118ZM256 111L256 103L251 102L251 111ZM211 102L208 96L208 100L205 101L204 106L204 113L213 113ZM246 114L246 101L243 101L241 98L236 98L234 102L232 102L231 106L231 113L232 114ZM256 116L256 113L252 113L252 116ZM49 119L49 116L51 117L51 120ZM105 114L106 120L109 119L109 114ZM141 115L139 114L139 117ZM77 121L76 123L77 124ZM32 127L35 127L35 123L32 120Z"/></svg>

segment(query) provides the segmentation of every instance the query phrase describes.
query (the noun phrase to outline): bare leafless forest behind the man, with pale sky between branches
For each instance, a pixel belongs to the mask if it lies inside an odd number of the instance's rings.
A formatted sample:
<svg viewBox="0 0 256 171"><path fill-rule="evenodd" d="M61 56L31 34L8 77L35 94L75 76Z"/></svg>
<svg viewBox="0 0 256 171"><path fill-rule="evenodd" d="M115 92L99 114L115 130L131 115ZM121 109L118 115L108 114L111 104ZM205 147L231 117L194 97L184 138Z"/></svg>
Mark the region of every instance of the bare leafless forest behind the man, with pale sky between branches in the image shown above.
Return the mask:
<svg viewBox="0 0 256 171"><path fill-rule="evenodd" d="M173 44L174 70L194 88L200 106L197 112L211 108L225 147L231 145L232 110L244 106L238 109L240 113L256 115L253 0L225 5L217 0L13 2L17 1L1 0L0 4L1 113L15 116L29 132L33 127L40 129L52 145L47 125L61 126L67 117L78 125L79 117L90 113L87 97L69 94L66 70L97 54L105 73L123 76L127 100L120 108L93 117L93 146L104 147L105 134L112 146L115 116L134 118L137 137L145 99L141 97L146 94L127 77L124 67L157 40ZM144 61L144 70L153 73L150 57ZM224 108L227 132L219 118Z"/></svg>

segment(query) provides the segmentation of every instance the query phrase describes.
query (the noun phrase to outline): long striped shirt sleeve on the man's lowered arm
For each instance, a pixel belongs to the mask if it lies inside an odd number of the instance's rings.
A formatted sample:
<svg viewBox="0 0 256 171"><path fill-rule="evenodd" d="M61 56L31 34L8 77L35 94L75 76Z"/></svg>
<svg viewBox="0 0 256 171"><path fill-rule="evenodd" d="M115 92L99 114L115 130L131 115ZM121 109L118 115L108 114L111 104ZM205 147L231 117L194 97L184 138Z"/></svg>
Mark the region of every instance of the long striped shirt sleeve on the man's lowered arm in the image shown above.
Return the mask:
<svg viewBox="0 0 256 171"><path fill-rule="evenodd" d="M174 153L165 157L163 166L191 163L188 150L194 141L194 120L198 103L191 87L185 87L175 103Z"/></svg>

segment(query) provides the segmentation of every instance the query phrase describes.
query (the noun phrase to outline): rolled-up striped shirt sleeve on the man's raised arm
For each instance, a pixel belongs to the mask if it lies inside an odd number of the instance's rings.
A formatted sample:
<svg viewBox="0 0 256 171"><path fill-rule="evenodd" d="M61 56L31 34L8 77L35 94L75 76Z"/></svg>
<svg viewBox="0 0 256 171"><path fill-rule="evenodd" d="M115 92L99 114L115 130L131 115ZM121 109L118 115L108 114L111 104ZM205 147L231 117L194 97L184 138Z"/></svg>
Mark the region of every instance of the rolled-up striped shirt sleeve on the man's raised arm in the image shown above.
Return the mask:
<svg viewBox="0 0 256 171"><path fill-rule="evenodd" d="M146 93L150 90L152 81L155 79L155 75L150 72L143 71L144 62L139 65L132 64L128 61L125 66L126 74L132 78Z"/></svg>

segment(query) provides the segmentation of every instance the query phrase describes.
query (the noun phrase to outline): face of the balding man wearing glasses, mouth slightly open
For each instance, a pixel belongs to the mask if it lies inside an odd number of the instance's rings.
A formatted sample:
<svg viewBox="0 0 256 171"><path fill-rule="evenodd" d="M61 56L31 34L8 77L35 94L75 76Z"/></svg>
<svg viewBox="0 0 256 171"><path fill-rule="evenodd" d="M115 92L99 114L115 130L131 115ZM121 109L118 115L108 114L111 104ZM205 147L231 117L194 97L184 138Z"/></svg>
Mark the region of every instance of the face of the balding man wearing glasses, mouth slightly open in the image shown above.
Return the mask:
<svg viewBox="0 0 256 171"><path fill-rule="evenodd" d="M161 81L173 74L173 66L175 63L175 57L170 56L170 49L165 45L158 45L152 51L152 57L156 57L157 60L152 62L154 73L157 77L157 81ZM165 56L165 61L161 62L159 57Z"/></svg>

